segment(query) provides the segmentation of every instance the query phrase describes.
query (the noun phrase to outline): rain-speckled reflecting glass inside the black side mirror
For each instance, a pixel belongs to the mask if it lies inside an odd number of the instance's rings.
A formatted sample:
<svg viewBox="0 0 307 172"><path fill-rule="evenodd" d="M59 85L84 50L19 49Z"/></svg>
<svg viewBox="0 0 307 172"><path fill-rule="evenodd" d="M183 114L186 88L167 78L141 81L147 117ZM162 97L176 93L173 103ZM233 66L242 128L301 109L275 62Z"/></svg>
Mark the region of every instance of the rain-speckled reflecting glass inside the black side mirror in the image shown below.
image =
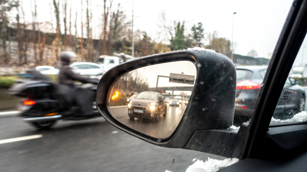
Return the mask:
<svg viewBox="0 0 307 172"><path fill-rule="evenodd" d="M189 102L196 66L189 61L149 65L115 81L109 112L122 124L156 138L170 136Z"/></svg>

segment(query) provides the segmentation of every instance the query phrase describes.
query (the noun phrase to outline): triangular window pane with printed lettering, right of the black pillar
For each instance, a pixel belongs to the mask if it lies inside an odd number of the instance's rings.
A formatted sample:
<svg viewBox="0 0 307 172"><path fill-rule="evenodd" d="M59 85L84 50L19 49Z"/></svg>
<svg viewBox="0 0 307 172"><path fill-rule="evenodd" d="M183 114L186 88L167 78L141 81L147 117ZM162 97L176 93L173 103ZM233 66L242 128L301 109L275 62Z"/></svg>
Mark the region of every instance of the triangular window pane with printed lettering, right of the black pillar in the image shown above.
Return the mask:
<svg viewBox="0 0 307 172"><path fill-rule="evenodd" d="M307 89L307 51L305 51L307 39L305 37L289 76L296 80L292 85L289 78L285 82L282 93L279 96L277 106L274 110L272 123L284 122L306 122L306 89ZM299 81L299 82L297 82Z"/></svg>

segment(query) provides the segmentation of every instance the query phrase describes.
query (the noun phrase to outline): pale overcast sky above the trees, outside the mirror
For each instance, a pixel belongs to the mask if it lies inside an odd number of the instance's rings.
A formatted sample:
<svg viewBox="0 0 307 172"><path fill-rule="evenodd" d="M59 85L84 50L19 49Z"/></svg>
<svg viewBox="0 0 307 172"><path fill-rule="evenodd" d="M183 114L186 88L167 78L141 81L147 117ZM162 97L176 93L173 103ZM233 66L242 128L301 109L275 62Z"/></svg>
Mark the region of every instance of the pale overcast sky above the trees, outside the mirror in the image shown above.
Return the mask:
<svg viewBox="0 0 307 172"><path fill-rule="evenodd" d="M31 21L31 1L22 0L26 13L26 20ZM34 0L32 0L33 4ZM60 0L60 3L62 0ZM75 20L78 11L78 24L80 24L81 0L68 0L72 2L72 20ZM96 35L101 33L101 14L103 1L91 0L93 11L93 25ZM52 0L37 0L38 21L51 21L49 3ZM233 40L235 54L246 55L255 49L258 57L267 57L273 52L292 0L113 0L113 7L121 3L122 10L127 15L127 21L132 19L132 3L134 7L134 30L146 31L156 41L165 40L165 34L159 34L159 16L162 11L166 15L167 24L173 21L185 21L185 34L190 33L191 27L198 22L203 23L204 32L218 32L218 37L231 40L232 18L234 19ZM107 3L109 5L109 1ZM86 1L83 0L83 21L85 23ZM68 6L69 9L69 6ZM62 8L60 8L62 10ZM236 14L233 15L233 13ZM69 11L68 11L69 13ZM53 8L52 8L52 14ZM61 20L63 16L61 16ZM55 18L52 18L55 24ZM78 26L80 28L80 26ZM74 31L73 31L74 33ZM80 34L80 31L79 31Z"/></svg>

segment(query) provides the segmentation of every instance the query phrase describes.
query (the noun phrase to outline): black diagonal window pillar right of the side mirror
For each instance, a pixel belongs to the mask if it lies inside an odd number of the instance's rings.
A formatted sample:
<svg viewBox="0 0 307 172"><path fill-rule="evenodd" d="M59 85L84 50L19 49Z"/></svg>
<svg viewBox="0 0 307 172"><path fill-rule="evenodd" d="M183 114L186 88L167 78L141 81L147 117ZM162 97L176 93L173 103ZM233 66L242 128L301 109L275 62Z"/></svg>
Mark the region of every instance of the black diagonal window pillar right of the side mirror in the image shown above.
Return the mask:
<svg viewBox="0 0 307 172"><path fill-rule="evenodd" d="M254 112L247 126L240 159L260 156L263 137L269 129L279 95L307 33L306 18L307 1L294 1L263 79Z"/></svg>

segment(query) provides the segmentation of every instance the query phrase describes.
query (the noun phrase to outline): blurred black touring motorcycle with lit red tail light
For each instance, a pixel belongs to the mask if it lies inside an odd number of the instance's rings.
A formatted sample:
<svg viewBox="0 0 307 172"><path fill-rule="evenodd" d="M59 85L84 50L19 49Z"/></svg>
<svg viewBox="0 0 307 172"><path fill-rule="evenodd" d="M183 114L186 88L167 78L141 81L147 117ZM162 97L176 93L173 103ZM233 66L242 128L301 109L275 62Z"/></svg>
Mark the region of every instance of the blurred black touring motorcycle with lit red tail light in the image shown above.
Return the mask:
<svg viewBox="0 0 307 172"><path fill-rule="evenodd" d="M18 105L19 114L23 121L29 122L39 129L48 129L58 120L84 120L100 117L96 109L95 95L99 80L93 79L92 83L77 86L77 89L85 90L91 94L91 115L82 115L78 104L67 95L70 88L63 84L57 84L36 70L21 74L23 79L9 88L9 94L24 98Z"/></svg>

